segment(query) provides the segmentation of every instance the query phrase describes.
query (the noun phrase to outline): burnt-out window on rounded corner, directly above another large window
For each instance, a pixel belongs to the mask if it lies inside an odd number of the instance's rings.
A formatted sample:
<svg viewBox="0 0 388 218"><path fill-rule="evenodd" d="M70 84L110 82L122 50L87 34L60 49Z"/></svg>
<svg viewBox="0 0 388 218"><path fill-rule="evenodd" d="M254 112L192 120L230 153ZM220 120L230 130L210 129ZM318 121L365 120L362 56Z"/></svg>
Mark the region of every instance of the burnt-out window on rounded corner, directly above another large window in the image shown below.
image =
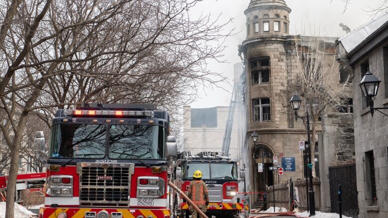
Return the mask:
<svg viewBox="0 0 388 218"><path fill-rule="evenodd" d="M251 61L252 84L270 82L270 59L261 58Z"/></svg>

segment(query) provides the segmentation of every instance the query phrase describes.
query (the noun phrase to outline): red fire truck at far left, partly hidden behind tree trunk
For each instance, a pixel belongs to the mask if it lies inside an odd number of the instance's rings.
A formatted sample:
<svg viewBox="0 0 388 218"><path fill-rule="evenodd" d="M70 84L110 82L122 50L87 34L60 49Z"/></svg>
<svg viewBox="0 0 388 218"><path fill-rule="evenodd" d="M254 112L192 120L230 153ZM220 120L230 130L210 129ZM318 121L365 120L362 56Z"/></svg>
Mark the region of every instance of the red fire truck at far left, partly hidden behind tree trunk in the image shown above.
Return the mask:
<svg viewBox="0 0 388 218"><path fill-rule="evenodd" d="M22 203L22 193L38 193L43 195L46 173L26 173L16 176L16 202ZM0 176L0 197L5 201L8 176Z"/></svg>

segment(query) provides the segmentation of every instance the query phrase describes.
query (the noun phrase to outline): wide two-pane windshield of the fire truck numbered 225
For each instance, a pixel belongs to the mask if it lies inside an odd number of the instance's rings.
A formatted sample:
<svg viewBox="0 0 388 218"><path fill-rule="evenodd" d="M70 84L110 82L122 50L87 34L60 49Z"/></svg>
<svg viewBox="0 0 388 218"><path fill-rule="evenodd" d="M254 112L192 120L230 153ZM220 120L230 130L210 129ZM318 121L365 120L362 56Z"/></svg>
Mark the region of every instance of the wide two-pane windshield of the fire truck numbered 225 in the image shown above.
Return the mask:
<svg viewBox="0 0 388 218"><path fill-rule="evenodd" d="M163 159L166 134L157 125L56 124L50 157Z"/></svg>

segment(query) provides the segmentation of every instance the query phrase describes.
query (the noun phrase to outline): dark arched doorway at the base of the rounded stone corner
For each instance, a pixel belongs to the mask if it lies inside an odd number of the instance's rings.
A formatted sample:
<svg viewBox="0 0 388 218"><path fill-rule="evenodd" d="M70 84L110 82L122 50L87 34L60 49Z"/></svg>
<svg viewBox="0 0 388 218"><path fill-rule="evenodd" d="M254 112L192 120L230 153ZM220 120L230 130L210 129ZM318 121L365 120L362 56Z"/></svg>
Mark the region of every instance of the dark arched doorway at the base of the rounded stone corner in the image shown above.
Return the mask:
<svg viewBox="0 0 388 218"><path fill-rule="evenodd" d="M254 188L256 192L263 192L263 173L258 172L258 163L263 162L263 154L264 154L264 187L266 185L271 186L274 184L274 174L272 170L269 170L270 166L273 166L272 150L264 144L256 144L253 147L253 163L254 163Z"/></svg>

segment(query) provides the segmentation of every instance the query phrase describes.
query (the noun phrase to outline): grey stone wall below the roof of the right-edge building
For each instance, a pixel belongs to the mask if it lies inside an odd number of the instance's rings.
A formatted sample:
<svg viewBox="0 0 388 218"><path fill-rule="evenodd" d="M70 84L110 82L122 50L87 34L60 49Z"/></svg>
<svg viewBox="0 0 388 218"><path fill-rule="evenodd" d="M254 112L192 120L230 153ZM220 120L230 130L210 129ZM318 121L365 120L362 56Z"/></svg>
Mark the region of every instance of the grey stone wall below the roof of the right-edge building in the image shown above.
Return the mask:
<svg viewBox="0 0 388 218"><path fill-rule="evenodd" d="M371 54L365 55L354 67L353 84L358 84L365 72L361 70L361 64L369 62L369 70L383 82L380 84L378 95L375 99L375 107L387 107L388 98L385 96L385 71L383 49L388 46L385 42L376 48ZM387 218L388 217L388 117L375 112L370 114L369 107L363 108L361 89L354 85L354 133L356 146L356 170L357 190L360 208L360 218ZM383 111L386 113L387 111ZM366 152L373 152L376 176L377 204L372 203L371 178L368 175Z"/></svg>

